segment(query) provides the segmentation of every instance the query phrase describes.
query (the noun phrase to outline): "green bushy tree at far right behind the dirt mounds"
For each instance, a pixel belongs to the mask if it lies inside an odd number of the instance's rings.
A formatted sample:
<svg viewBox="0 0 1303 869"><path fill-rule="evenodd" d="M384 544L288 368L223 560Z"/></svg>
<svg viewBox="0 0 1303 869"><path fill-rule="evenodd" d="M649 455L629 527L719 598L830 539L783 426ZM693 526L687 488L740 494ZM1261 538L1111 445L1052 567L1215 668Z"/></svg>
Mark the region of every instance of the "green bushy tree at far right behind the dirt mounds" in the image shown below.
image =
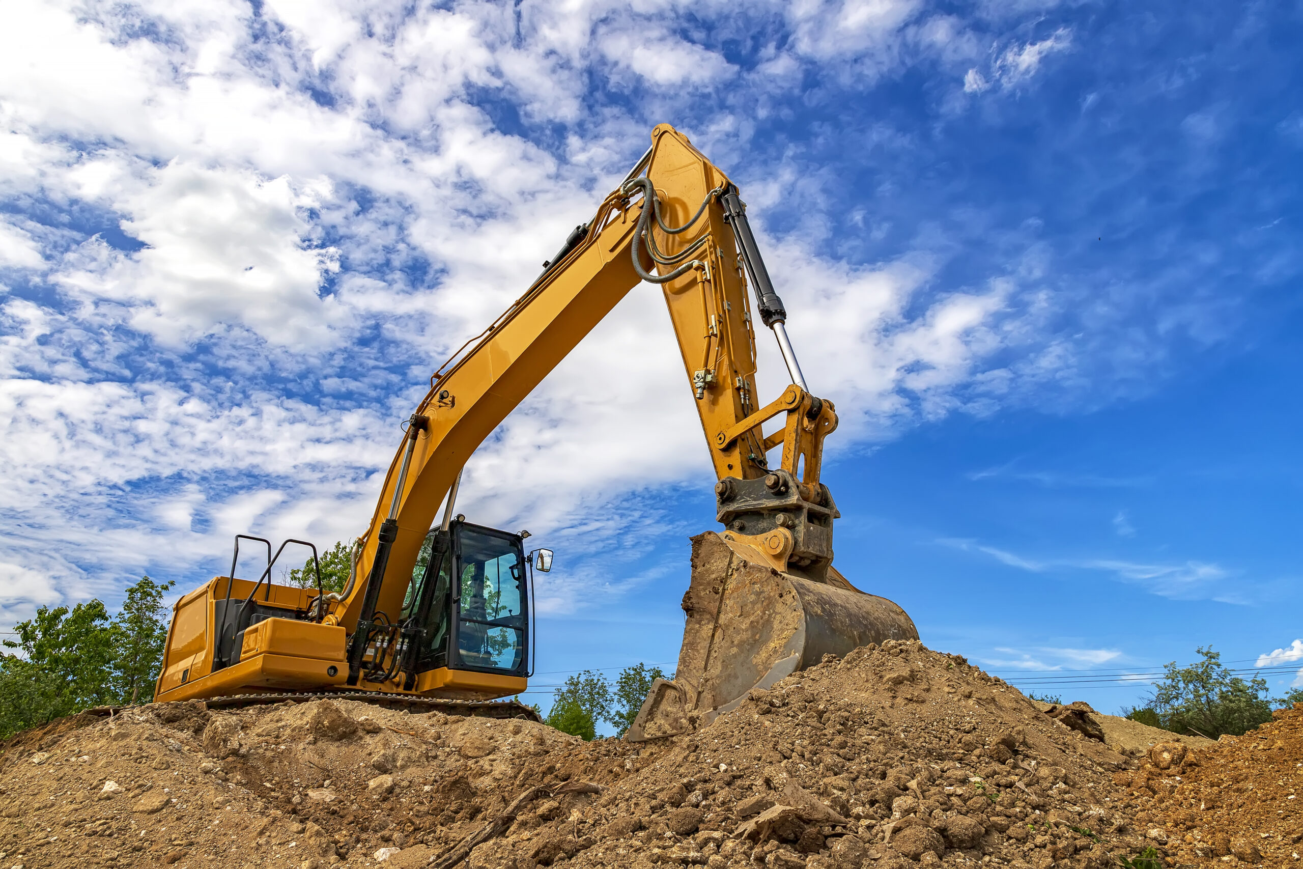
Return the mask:
<svg viewBox="0 0 1303 869"><path fill-rule="evenodd" d="M1169 663L1154 685L1149 705L1164 730L1217 739L1222 734L1239 736L1272 720L1265 679L1235 676L1212 646L1200 646L1197 653L1203 661L1188 667Z"/></svg>

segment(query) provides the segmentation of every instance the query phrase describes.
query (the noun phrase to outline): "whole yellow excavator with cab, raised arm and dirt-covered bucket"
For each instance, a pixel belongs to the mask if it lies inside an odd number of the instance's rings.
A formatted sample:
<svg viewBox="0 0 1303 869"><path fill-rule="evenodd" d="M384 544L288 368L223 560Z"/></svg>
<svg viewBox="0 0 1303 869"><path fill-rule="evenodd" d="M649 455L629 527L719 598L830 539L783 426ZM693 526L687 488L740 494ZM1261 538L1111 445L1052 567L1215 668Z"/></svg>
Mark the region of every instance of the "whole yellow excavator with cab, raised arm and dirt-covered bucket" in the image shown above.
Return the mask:
<svg viewBox="0 0 1303 869"><path fill-rule="evenodd" d="M289 545L237 535L228 576L177 601L155 701L238 706L344 696L493 717L532 675L534 571L549 550L455 515L476 448L641 283L658 284L683 353L710 459L722 532L692 539L683 648L629 730L645 740L704 727L748 691L825 654L917 638L890 601L833 567L839 513L820 481L833 403L805 386L736 185L668 124L620 186L577 227L506 313L430 378L407 421L339 593L278 585ZM760 404L754 314L791 386ZM778 421L773 434L764 426ZM782 447L770 466L766 457ZM443 504L442 519L439 506ZM257 580L235 578L240 543L266 546ZM248 552L248 547L246 547Z"/></svg>

